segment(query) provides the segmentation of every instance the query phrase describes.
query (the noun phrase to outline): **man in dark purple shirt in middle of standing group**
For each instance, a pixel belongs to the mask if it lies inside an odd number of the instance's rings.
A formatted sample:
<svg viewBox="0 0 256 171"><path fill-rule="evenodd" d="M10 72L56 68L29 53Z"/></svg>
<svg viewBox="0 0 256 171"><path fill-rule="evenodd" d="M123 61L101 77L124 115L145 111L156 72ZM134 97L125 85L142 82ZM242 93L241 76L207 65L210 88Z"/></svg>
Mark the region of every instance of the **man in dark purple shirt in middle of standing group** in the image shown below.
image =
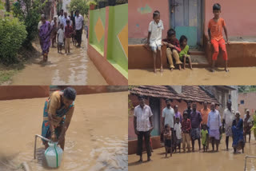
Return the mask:
<svg viewBox="0 0 256 171"><path fill-rule="evenodd" d="M200 123L202 121L201 113L197 110L197 104L194 102L192 105L192 112L190 113L191 121L191 141L192 141L192 152L194 152L194 141L198 140L199 150L201 150L200 141Z"/></svg>

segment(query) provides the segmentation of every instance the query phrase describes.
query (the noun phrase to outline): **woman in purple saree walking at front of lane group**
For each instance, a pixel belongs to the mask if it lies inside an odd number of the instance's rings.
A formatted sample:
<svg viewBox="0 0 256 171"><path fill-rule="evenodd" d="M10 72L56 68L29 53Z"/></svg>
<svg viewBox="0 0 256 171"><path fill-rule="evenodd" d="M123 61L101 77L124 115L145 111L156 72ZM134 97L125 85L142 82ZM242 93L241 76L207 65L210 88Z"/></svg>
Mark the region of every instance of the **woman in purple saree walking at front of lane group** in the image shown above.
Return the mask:
<svg viewBox="0 0 256 171"><path fill-rule="evenodd" d="M42 26L40 26L39 30L40 45L42 49L43 62L47 62L50 49L50 33L52 29L50 22L46 21L45 14L41 15L41 22Z"/></svg>

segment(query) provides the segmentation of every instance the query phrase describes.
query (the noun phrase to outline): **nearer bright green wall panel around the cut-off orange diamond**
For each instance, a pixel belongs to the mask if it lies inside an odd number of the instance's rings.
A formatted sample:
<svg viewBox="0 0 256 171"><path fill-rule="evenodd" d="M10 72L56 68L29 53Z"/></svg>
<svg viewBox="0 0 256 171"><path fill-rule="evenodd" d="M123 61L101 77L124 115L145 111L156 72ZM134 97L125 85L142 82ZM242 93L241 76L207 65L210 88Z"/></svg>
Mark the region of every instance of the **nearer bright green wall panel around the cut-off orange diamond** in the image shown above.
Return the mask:
<svg viewBox="0 0 256 171"><path fill-rule="evenodd" d="M128 78L128 58L122 50L118 34L128 23L128 4L110 6L107 40L107 60Z"/></svg>

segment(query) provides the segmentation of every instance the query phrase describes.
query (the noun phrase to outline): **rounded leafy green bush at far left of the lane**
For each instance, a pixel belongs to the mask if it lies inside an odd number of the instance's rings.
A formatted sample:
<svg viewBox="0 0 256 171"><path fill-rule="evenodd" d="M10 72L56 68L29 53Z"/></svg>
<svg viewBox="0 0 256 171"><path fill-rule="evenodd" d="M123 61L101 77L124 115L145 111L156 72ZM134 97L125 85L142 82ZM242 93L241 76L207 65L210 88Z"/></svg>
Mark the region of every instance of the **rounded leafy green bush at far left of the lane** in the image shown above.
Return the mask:
<svg viewBox="0 0 256 171"><path fill-rule="evenodd" d="M17 62L17 53L26 39L26 26L18 18L0 18L0 60L4 64Z"/></svg>

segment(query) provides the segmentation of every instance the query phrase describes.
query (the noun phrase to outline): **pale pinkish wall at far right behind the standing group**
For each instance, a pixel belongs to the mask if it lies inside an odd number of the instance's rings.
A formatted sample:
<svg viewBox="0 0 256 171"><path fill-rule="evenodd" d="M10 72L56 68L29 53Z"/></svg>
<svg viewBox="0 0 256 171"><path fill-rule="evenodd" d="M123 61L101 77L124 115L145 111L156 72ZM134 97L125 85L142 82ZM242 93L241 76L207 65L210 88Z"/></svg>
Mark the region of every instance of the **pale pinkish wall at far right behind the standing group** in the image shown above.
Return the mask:
<svg viewBox="0 0 256 171"><path fill-rule="evenodd" d="M242 105L240 101L243 100L245 103ZM256 92L251 93L238 93L238 111L241 113L241 117L244 116L246 109L250 109L250 114L256 111Z"/></svg>

